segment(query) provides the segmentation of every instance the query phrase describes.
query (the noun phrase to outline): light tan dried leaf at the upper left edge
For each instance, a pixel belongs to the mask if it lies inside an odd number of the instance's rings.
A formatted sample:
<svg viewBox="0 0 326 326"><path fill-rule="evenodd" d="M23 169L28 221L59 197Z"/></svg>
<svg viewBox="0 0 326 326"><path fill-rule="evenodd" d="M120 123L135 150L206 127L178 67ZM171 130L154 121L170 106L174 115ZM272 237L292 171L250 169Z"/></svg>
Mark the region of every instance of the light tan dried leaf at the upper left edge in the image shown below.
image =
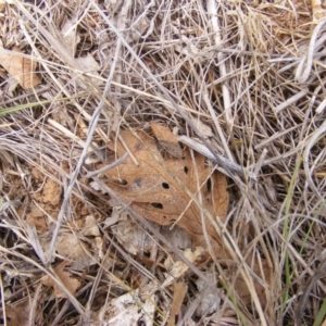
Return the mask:
<svg viewBox="0 0 326 326"><path fill-rule="evenodd" d="M20 48L13 47L11 53L1 53L0 64L14 77L24 89L39 85L41 80L35 73L37 62L28 58L16 55L23 53Z"/></svg>

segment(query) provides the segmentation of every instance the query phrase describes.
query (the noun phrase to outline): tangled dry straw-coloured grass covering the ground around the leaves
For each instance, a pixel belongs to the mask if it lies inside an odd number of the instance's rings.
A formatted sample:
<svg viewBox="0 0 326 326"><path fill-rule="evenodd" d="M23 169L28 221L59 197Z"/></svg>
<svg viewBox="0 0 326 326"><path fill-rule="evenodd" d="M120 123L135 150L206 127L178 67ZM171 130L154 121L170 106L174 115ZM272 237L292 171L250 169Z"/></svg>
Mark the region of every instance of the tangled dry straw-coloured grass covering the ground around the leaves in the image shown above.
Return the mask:
<svg viewBox="0 0 326 326"><path fill-rule="evenodd" d="M273 273L262 279L250 266L230 273L216 261L191 264L179 325L321 324L326 311L326 21L313 20L312 11L323 17L323 8L271 2L12 1L1 7L3 47L18 46L38 62L41 77L35 89L18 87L10 95L0 71L1 108L27 104L0 117L0 288L3 315L11 314L7 325L14 325L10 309L24 298L29 299L24 325L99 325L95 316L112 298L163 281L160 268L147 266L111 236L108 196L83 176L97 168L93 162L114 161L105 147L111 131L148 131L155 121L202 139L193 117L212 128L210 145L243 167L243 176L226 171L231 256L238 262L252 256L261 268L264 260ZM66 21L72 25L64 38ZM99 74L75 60L88 54ZM45 192L37 197L49 178L60 185L51 195L59 195L57 203L47 202ZM41 201L47 227L26 220ZM76 225L89 214L112 263L98 256L87 268L71 267L80 281L72 294L54 271L62 259L55 241L65 229L86 241ZM153 226L146 227L171 247ZM216 227L223 227L218 221ZM47 254L42 238L50 246ZM250 289L250 304L231 291L238 273L264 288L263 293ZM45 275L66 298L41 290ZM197 278L211 287L215 279L221 289L221 306L212 315L195 314L204 298ZM158 296L154 324L161 325L172 300L168 289Z"/></svg>

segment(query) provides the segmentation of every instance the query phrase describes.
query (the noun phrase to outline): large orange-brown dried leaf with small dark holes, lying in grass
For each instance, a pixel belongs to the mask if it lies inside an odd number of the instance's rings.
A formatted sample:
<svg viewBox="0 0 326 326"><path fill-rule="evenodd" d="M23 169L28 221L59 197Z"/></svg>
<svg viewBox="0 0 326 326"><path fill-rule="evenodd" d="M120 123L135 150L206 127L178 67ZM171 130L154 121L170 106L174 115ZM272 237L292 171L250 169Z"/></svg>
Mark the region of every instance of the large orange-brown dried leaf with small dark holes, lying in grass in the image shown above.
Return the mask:
<svg viewBox="0 0 326 326"><path fill-rule="evenodd" d="M105 172L110 187L148 220L160 225L177 223L195 238L203 235L204 221L208 234L216 238L214 227L205 216L201 217L202 208L197 206L189 192L192 196L200 192L204 210L224 221L228 208L226 177L212 172L201 154L195 153L192 161L188 149L181 159L164 160L155 140L146 133L137 131L136 137L124 130L121 136L139 165L127 158ZM120 141L109 146L120 158L126 152Z"/></svg>

